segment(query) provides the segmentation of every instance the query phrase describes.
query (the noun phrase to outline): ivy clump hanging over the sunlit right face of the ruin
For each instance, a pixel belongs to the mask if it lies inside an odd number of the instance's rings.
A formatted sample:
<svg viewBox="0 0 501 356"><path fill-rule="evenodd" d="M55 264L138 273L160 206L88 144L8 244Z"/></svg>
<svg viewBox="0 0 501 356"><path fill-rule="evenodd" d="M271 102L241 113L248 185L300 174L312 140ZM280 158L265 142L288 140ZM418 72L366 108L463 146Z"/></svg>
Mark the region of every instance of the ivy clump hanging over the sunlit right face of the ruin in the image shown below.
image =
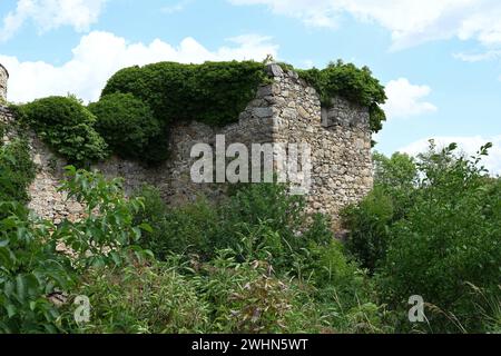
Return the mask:
<svg viewBox="0 0 501 356"><path fill-rule="evenodd" d="M372 76L367 67L356 68L353 63L338 60L325 69L298 70L299 77L313 86L321 96L322 105L332 106L332 98L344 97L370 109L371 129L379 132L386 120L380 105L386 101L384 87Z"/></svg>

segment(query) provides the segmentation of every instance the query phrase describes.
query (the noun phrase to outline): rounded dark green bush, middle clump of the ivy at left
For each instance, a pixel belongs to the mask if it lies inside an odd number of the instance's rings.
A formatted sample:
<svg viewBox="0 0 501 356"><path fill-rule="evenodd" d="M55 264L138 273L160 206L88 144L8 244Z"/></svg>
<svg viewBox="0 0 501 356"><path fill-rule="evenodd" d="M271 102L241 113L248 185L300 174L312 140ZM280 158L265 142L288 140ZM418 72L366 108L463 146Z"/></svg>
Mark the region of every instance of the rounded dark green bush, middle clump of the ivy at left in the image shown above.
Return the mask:
<svg viewBox="0 0 501 356"><path fill-rule="evenodd" d="M89 105L96 130L122 158L148 160L148 147L158 145L161 127L151 109L130 93L112 93Z"/></svg>

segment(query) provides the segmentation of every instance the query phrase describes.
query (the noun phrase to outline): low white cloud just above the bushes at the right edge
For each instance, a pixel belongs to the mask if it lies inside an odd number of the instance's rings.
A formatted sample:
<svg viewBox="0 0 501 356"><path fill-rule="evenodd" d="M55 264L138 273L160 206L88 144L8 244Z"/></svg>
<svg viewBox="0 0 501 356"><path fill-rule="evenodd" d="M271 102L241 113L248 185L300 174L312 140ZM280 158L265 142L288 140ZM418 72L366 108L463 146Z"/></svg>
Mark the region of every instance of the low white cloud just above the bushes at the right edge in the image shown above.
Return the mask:
<svg viewBox="0 0 501 356"><path fill-rule="evenodd" d="M406 147L400 149L401 152L405 152L409 155L418 155L426 151L429 147L429 139L422 139L415 141ZM482 164L492 175L501 175L501 135L492 136L492 137L482 137L482 136L473 136L473 137L435 137L433 138L438 147L442 148L449 146L452 142L456 142L459 145L460 151L473 156L475 155L480 147L484 146L487 142L492 142L494 145L493 148L489 150L489 156L482 160Z"/></svg>

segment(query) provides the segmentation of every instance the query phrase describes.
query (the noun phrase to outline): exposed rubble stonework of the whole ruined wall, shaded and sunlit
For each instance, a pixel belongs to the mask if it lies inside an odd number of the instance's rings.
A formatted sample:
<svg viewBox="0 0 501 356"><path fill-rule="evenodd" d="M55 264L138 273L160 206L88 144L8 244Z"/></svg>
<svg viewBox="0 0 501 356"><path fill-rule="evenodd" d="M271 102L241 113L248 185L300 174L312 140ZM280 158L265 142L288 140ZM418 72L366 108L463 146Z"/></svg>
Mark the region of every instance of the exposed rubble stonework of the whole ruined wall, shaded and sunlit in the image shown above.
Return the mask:
<svg viewBox="0 0 501 356"><path fill-rule="evenodd" d="M156 168L116 157L94 167L107 177L122 177L128 194L144 184L159 188L173 205L194 201L199 195L210 200L224 197L227 185L194 184L190 169L196 161L190 151L196 144L215 146L216 135L226 136L226 145L308 144L312 147L312 189L307 196L310 212L324 212L338 220L338 211L361 199L372 189L371 132L369 110L335 98L330 110L323 110L316 91L297 73L271 65L273 82L258 88L255 100L242 112L239 121L213 128L193 121L177 123L170 137L171 157ZM8 117L6 109L0 118ZM30 208L55 219L78 218L81 207L66 201L58 192L65 161L55 157L38 138L31 136L33 159L39 166L30 188Z"/></svg>

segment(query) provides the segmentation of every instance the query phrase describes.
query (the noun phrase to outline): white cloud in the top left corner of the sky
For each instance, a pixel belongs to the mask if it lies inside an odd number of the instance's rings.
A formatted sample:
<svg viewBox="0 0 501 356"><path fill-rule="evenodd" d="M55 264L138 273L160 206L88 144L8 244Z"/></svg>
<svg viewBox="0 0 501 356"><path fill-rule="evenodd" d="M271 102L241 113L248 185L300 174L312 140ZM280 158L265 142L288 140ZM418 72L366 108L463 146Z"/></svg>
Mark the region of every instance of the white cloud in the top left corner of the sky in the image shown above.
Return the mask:
<svg viewBox="0 0 501 356"><path fill-rule="evenodd" d="M62 26L87 31L95 23L107 0L18 0L17 8L3 17L0 41L7 41L24 24L32 21L39 32Z"/></svg>

